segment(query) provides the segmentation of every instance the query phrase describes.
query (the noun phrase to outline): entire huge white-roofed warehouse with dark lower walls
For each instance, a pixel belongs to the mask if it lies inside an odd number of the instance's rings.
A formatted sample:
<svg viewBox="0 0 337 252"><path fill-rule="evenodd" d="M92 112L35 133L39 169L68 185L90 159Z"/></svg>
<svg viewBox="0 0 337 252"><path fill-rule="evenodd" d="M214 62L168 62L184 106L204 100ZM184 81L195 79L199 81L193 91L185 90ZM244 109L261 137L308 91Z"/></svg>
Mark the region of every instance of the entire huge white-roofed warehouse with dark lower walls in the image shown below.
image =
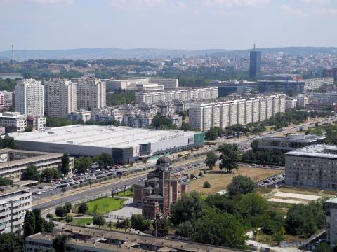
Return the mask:
<svg viewBox="0 0 337 252"><path fill-rule="evenodd" d="M112 155L117 163L204 145L204 133L131 127L70 125L35 132L12 133L29 151L70 153L74 156Z"/></svg>

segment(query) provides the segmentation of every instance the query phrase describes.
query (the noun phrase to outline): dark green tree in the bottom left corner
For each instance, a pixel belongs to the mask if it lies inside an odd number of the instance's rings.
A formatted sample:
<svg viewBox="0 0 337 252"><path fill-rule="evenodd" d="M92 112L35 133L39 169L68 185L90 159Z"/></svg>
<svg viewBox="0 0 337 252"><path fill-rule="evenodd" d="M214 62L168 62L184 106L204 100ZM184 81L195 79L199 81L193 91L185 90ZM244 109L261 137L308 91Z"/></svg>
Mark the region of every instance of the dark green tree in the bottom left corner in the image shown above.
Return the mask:
<svg viewBox="0 0 337 252"><path fill-rule="evenodd" d="M25 240L16 232L0 234L0 251L23 252Z"/></svg>

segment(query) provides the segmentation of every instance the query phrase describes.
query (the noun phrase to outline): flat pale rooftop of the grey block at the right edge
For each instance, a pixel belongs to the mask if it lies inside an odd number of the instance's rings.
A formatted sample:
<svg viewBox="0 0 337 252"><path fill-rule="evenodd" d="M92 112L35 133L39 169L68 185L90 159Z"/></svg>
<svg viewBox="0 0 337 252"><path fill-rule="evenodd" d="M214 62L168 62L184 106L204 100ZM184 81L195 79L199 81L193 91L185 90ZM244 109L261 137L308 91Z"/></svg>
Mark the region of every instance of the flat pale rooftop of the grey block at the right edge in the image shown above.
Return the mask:
<svg viewBox="0 0 337 252"><path fill-rule="evenodd" d="M336 158L337 146L329 146L326 144L313 144L294 151L289 151L286 155L308 155L316 158Z"/></svg>

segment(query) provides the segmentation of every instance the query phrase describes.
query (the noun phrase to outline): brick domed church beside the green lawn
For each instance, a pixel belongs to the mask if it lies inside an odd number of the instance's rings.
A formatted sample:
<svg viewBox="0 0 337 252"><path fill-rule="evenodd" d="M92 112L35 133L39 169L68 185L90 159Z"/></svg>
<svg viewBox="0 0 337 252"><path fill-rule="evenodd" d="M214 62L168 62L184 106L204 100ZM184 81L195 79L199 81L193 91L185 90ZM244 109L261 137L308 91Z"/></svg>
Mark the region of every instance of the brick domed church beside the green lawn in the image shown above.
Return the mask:
<svg viewBox="0 0 337 252"><path fill-rule="evenodd" d="M172 169L170 158L161 157L156 170L147 174L146 181L133 185L133 203L142 208L147 219L158 215L168 217L171 205L180 200L183 193L190 193L190 184L181 180L178 170Z"/></svg>

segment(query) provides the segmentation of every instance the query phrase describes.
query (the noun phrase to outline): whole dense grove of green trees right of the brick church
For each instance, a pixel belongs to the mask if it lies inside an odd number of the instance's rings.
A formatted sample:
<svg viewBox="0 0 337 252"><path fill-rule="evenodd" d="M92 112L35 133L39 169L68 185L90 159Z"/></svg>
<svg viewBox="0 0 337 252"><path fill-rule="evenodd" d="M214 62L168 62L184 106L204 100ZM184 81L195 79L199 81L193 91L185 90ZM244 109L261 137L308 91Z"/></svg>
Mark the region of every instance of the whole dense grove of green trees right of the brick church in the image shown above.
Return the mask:
<svg viewBox="0 0 337 252"><path fill-rule="evenodd" d="M197 193L183 195L171 209L170 221L176 226L176 235L244 249L248 238L245 233L252 229L260 228L259 232L279 244L286 234L310 237L325 225L322 202L294 204L284 218L255 192L255 183L247 177L235 176L227 191L227 195L206 199Z"/></svg>

